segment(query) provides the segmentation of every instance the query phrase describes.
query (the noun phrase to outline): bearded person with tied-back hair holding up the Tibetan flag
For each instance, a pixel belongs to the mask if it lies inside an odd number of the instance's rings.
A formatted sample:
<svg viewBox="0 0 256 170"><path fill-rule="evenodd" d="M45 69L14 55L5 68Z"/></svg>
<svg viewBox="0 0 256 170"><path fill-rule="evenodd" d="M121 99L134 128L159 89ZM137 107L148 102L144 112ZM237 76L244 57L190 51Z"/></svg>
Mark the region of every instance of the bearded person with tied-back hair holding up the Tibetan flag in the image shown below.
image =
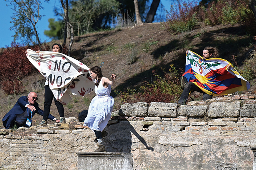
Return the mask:
<svg viewBox="0 0 256 170"><path fill-rule="evenodd" d="M186 51L186 54L188 54L189 51ZM209 59L209 58L218 58L219 57L219 52L218 49L214 48L214 47L205 47L205 49L203 50L203 60ZM220 74L220 75L225 75L228 73L228 70L230 70L231 65L227 65L226 68L224 69L220 69L218 70L218 72L214 72L215 74ZM189 69L190 70L190 69ZM191 77L191 80L189 80L189 82L187 81L185 75L189 74L188 77ZM191 76L192 75L192 76ZM193 82L197 82L197 83L202 83L200 82L198 79L192 78L194 76L194 73L191 74L191 71L187 71L185 72L182 77L181 77L181 84L184 87L184 90L181 94L181 97L179 98L178 103L181 105L185 105L188 99L188 96L190 94L190 91L198 91L200 93L203 93L203 100L207 100L207 99L211 99L213 96L210 94L207 94L205 92L203 92L198 85L196 85L196 83Z"/></svg>

